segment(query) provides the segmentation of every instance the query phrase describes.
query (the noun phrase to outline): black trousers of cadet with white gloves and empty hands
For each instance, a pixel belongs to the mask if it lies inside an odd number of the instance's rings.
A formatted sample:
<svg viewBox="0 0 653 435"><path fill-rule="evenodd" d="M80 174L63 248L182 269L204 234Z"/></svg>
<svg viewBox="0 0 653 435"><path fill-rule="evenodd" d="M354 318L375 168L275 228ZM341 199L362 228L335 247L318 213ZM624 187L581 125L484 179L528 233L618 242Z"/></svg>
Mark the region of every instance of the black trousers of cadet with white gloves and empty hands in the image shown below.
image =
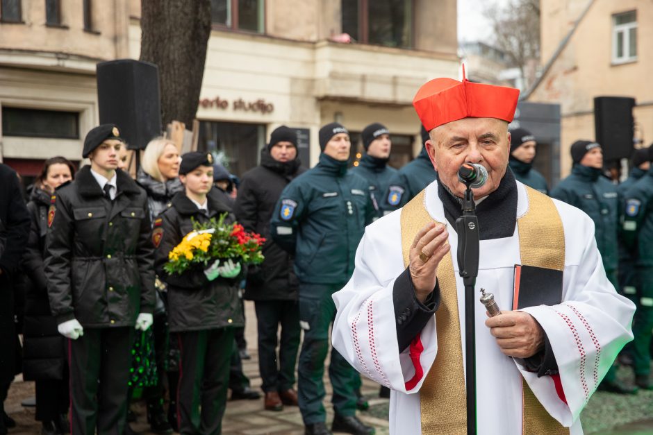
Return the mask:
<svg viewBox="0 0 653 435"><path fill-rule="evenodd" d="M68 340L72 434L122 435L133 327L85 328Z"/></svg>

